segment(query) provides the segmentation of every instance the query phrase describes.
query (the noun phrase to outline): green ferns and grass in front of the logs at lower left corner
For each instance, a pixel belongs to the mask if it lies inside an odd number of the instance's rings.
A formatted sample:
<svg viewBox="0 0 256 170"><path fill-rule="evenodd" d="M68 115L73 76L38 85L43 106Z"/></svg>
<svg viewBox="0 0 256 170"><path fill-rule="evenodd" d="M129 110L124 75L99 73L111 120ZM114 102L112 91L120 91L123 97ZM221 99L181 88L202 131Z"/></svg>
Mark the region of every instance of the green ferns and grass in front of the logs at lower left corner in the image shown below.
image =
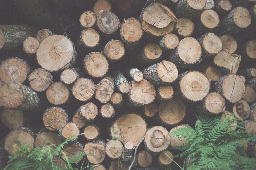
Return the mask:
<svg viewBox="0 0 256 170"><path fill-rule="evenodd" d="M81 135L81 134L80 134ZM30 148L29 145L21 146L19 141L15 141L14 145L14 155L9 156L9 165L4 170L78 170L73 168L72 164L77 164L78 160L81 160L86 153L79 153L74 156L67 157L66 154L62 151L63 147L69 142L76 141L78 135L74 135L69 139L65 140L59 146L51 144L44 147ZM19 149L16 149L16 146L19 146ZM32 151L28 151L32 149ZM64 161L65 166L60 167L54 160L57 162ZM88 169L89 163L86 162L87 166L83 167L84 160L80 170Z"/></svg>

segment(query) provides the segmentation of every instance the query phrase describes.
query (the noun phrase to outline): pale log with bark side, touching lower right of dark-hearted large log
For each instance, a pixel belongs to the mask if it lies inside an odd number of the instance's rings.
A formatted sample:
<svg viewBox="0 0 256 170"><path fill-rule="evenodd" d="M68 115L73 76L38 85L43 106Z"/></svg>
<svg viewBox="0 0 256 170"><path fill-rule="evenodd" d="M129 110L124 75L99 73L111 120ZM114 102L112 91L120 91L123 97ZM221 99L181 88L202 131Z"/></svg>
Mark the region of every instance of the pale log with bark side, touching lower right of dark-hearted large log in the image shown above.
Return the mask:
<svg viewBox="0 0 256 170"><path fill-rule="evenodd" d="M194 105L195 112L202 114L219 114L225 108L225 99L218 93L209 93L203 101Z"/></svg>

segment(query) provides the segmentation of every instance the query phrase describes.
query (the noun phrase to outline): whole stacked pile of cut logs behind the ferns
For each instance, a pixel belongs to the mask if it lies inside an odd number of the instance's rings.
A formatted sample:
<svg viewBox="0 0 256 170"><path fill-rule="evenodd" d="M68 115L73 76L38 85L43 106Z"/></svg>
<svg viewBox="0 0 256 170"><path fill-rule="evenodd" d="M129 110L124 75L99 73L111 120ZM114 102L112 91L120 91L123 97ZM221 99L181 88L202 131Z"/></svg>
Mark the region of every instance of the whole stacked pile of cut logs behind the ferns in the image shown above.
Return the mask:
<svg viewBox="0 0 256 170"><path fill-rule="evenodd" d="M167 134L193 127L198 112L234 113L256 135L254 0L93 2L68 37L54 13L46 22L12 0L47 28L0 25L3 152L13 154L14 139L42 147L83 133L63 150L90 153L92 170L169 167L169 146L187 143Z"/></svg>

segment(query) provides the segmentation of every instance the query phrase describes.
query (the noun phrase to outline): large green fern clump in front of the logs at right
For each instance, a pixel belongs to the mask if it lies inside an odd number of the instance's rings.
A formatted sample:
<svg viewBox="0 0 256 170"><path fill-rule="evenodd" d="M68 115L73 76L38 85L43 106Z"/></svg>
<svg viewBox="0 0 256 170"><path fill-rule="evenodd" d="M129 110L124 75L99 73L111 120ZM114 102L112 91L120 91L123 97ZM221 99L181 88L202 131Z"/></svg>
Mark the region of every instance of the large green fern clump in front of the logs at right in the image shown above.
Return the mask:
<svg viewBox="0 0 256 170"><path fill-rule="evenodd" d="M230 124L237 121L232 116L221 120L217 115L197 114L195 129L183 127L168 134L184 137L189 144L172 147L181 151L175 157L187 158L186 164L191 164L187 169L254 170L256 160L247 157L242 141L250 142L256 135L247 134L239 123L232 130Z"/></svg>

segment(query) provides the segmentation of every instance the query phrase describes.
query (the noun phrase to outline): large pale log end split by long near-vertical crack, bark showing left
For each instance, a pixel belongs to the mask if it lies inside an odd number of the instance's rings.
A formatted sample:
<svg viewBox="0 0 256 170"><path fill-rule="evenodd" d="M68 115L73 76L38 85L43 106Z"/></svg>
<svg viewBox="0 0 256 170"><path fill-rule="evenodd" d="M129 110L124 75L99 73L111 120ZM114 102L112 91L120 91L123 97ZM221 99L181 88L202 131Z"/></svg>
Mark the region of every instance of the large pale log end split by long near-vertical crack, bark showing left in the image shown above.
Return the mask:
<svg viewBox="0 0 256 170"><path fill-rule="evenodd" d="M245 94L245 84L238 75L227 74L215 83L212 90L220 93L227 101L236 103Z"/></svg>

